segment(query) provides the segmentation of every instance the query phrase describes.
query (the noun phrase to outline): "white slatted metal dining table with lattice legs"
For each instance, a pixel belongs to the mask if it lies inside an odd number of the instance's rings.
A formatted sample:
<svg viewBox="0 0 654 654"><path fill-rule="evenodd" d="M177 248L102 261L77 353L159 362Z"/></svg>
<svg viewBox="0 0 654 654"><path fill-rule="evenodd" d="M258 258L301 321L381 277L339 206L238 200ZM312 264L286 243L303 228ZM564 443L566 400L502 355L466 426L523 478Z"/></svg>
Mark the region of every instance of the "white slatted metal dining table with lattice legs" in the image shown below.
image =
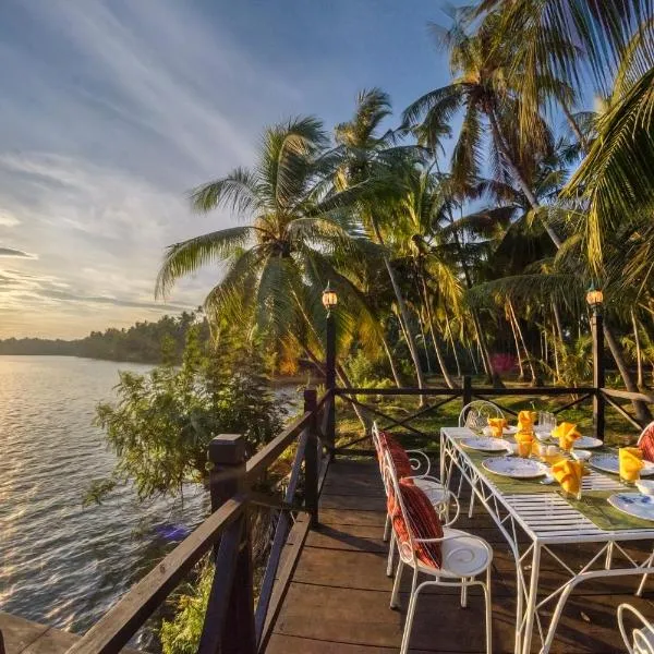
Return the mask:
<svg viewBox="0 0 654 654"><path fill-rule="evenodd" d="M456 467L507 540L516 560L516 654L530 654L534 627L541 638L541 653L549 652L566 602L583 581L639 574L642 581L637 594L642 592L646 576L654 572L654 552L650 547L651 554L638 561L622 545L632 541L654 542L654 525L652 529L601 529L556 493L556 487L552 492L504 493L461 445L462 438L472 436L474 434L468 427L440 429L440 479L449 483ZM625 486L616 477L595 470L582 482L583 492L614 489L623 491ZM522 543L518 538L520 533L526 535ZM588 546L588 558L584 556L585 565L576 571L554 546L580 543ZM546 594L538 588L544 556L549 556L569 576L559 588ZM523 564L530 557L528 579ZM555 608L546 625L540 610L550 603L555 603Z"/></svg>

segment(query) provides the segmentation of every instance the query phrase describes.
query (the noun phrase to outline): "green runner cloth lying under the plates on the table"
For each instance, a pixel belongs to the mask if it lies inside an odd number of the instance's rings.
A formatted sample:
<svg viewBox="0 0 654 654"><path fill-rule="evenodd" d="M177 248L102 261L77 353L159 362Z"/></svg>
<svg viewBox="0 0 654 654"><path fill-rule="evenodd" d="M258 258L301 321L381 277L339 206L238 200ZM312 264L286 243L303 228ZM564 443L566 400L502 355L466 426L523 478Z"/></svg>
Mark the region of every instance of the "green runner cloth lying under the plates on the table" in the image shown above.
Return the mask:
<svg viewBox="0 0 654 654"><path fill-rule="evenodd" d="M461 446L462 447L462 446ZM616 531L622 529L646 529L654 530L654 522L649 520L642 520L640 518L632 518L622 511L614 508L608 504L607 499L616 494L620 493L620 491L588 491L584 492L581 496L580 500L572 499L562 493L560 486L557 482L553 482L552 484L542 484L540 480L514 480L512 477L505 477L501 475L493 474L488 472L483 465L482 462L485 459L494 456L489 452L479 452L475 450L471 450L462 447L465 451L465 455L472 461L474 467L479 470L481 474L483 474L488 481L493 483L493 485L502 494L502 495L532 495L535 493L557 493L566 501L577 509L580 513L586 517L591 522L593 522L600 529L606 531ZM597 452L610 452L609 448L600 448L594 450ZM602 473L601 473L602 474ZM613 477L609 473L606 473L607 476ZM617 479L617 477L616 477ZM625 487L622 493L631 493L629 488ZM633 489L635 493L637 491Z"/></svg>

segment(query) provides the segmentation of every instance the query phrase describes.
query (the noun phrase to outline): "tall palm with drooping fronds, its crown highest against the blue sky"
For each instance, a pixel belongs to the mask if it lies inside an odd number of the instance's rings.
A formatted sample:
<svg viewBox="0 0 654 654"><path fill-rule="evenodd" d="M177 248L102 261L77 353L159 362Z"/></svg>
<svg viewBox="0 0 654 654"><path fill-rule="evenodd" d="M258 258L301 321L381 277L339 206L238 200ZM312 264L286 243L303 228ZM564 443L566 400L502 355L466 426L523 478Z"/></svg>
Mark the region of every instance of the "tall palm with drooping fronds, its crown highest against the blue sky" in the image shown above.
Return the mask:
<svg viewBox="0 0 654 654"><path fill-rule="evenodd" d="M509 85L509 68L516 47L510 41L498 43L500 16L491 14L473 34L464 28L464 21L456 16L448 29L437 28L440 45L448 50L455 78L450 84L432 90L403 113L405 126L422 121L420 130L448 123L463 111L459 137L452 154L452 175L460 186L474 182L482 174L485 160L485 129L491 131L489 155L497 181L518 185L533 209L540 207L533 192L532 175L535 164L552 154L550 131L538 110L533 112L533 130L529 141L519 138L516 125L524 111L520 96ZM500 47L501 46L501 47ZM542 82L552 93L564 93L552 78ZM561 240L545 222L552 241Z"/></svg>

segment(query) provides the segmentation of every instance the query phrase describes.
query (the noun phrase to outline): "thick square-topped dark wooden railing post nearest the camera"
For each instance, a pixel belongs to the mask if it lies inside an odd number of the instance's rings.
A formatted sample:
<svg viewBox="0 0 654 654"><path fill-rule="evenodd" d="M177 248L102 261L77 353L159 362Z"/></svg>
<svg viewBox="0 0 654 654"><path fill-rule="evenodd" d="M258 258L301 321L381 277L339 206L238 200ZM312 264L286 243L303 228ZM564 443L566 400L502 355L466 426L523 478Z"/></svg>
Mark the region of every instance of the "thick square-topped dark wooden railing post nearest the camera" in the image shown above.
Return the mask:
<svg viewBox="0 0 654 654"><path fill-rule="evenodd" d="M221 434L209 444L213 463L209 485L211 511L245 486L245 438L241 434ZM242 517L241 543L235 560L231 600L222 629L220 654L255 654L254 591L250 518ZM206 625L205 625L206 628Z"/></svg>

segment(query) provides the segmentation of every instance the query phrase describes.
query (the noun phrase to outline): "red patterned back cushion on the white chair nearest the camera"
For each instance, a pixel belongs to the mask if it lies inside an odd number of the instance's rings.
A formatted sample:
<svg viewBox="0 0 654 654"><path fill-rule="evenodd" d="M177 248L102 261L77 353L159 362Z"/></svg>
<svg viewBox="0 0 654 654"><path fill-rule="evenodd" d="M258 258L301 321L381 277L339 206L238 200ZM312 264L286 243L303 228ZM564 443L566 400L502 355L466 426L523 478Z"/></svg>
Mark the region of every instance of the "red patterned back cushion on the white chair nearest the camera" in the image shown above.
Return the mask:
<svg viewBox="0 0 654 654"><path fill-rule="evenodd" d="M388 497L388 505L400 546L410 542L409 534L414 540L443 538L443 524L428 497L410 480L400 480L399 488L409 525L407 525L401 507L392 497L392 493ZM440 568L443 562L440 543L414 542L414 547L415 556L422 564L431 568Z"/></svg>

